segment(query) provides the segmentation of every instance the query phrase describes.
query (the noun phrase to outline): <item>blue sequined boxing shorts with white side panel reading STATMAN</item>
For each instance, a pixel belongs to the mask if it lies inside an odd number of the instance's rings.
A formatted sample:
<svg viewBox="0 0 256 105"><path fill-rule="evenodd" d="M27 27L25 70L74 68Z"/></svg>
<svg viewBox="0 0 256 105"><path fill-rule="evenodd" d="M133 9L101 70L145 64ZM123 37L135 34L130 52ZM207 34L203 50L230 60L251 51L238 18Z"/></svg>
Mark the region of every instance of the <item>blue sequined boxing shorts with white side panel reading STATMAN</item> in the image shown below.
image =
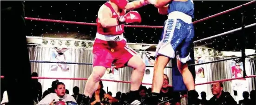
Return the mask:
<svg viewBox="0 0 256 105"><path fill-rule="evenodd" d="M193 23L186 23L181 19L168 19L164 23L156 55L163 55L173 59L177 54L177 59L186 63L190 59L193 38Z"/></svg>

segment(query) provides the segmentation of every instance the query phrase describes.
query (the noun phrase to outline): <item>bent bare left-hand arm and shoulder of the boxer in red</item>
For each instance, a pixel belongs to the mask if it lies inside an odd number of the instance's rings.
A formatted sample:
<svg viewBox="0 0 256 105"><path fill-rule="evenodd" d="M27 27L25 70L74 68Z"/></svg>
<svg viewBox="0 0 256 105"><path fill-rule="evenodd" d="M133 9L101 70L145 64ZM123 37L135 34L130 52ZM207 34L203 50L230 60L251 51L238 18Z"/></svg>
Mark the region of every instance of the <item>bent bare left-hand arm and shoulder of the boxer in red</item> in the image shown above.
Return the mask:
<svg viewBox="0 0 256 105"><path fill-rule="evenodd" d="M111 10L105 5L98 10L98 20L103 27L118 26L117 18L112 18Z"/></svg>

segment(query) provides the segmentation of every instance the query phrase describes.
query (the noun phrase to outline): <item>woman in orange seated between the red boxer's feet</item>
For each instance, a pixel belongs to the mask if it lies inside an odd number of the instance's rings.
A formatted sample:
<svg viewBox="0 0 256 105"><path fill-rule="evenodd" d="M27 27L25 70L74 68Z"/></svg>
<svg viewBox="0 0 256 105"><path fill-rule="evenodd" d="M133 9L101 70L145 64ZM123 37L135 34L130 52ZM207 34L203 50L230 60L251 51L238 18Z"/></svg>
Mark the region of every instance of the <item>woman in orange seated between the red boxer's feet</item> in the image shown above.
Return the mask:
<svg viewBox="0 0 256 105"><path fill-rule="evenodd" d="M98 89L92 94L92 98L90 100L91 105L108 105L110 103L116 103L118 100L113 98L111 95L107 94L103 90L102 81L99 81Z"/></svg>

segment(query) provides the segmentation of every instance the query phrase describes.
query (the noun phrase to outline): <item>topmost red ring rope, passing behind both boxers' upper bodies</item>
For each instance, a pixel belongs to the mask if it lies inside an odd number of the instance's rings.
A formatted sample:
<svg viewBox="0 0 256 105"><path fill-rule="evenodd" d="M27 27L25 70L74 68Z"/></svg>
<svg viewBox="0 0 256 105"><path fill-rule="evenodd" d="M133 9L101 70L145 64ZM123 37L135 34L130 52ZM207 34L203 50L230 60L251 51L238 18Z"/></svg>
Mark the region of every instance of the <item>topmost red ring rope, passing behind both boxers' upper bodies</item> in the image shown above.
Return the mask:
<svg viewBox="0 0 256 105"><path fill-rule="evenodd" d="M250 1L248 3L245 3L241 6L238 6L238 7L234 7L234 8L231 8L229 10L226 10L226 11L223 11L221 13L217 13L217 14L214 14L214 15L211 15L209 17L206 17L206 18L203 18L201 20L197 20L197 21L194 21L192 22L193 24L195 23L198 23L198 22L201 22L203 20L208 20L210 18L214 18L216 16L219 16L219 15L222 15L224 13L229 13L231 11L234 11L236 9L239 9L241 8L242 6L247 6L249 4L252 4L254 3L254 1ZM86 22L76 22L76 21L65 21L65 20L49 20L49 19L39 19L39 18L29 18L29 17L25 17L26 20L37 20L37 21L48 21L48 22L58 22L58 23L68 23L68 24L78 24L78 25L91 25L91 26L96 26L97 24L96 23L86 23ZM145 25L125 25L126 27L144 27L144 28L163 28L163 26L145 26Z"/></svg>

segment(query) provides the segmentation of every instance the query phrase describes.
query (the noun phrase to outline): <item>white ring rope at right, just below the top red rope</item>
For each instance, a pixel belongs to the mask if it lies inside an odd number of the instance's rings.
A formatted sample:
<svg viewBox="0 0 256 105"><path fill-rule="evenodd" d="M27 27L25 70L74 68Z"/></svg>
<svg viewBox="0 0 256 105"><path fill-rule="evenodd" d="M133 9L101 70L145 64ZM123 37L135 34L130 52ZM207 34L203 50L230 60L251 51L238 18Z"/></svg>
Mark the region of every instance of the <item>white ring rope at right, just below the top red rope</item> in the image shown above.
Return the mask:
<svg viewBox="0 0 256 105"><path fill-rule="evenodd" d="M245 26L244 28L249 28L249 27L255 26L255 25L256 25L256 23L253 23L253 24L250 24L248 26ZM197 43L199 41L203 41L203 40L207 40L207 39L216 38L216 37L223 36L223 35L228 34L228 33L233 33L233 32L239 31L239 30L242 30L242 27L236 28L236 29L224 32L224 33L220 33L220 34L217 34L217 35L213 35L213 36L210 36L210 37L207 37L207 38L199 39L199 40L194 41L193 43Z"/></svg>

